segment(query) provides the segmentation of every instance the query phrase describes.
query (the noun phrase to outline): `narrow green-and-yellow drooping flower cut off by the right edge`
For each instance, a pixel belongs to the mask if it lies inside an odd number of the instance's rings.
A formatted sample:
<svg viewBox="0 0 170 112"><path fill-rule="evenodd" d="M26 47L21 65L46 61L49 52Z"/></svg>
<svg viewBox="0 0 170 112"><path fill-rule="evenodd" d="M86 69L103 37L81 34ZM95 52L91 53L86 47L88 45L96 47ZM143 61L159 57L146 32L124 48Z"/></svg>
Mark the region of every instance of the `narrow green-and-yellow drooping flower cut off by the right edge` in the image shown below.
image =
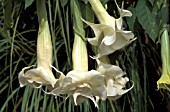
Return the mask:
<svg viewBox="0 0 170 112"><path fill-rule="evenodd" d="M157 81L158 89L164 88L170 91L170 42L168 31L165 29L161 36L162 76Z"/></svg>

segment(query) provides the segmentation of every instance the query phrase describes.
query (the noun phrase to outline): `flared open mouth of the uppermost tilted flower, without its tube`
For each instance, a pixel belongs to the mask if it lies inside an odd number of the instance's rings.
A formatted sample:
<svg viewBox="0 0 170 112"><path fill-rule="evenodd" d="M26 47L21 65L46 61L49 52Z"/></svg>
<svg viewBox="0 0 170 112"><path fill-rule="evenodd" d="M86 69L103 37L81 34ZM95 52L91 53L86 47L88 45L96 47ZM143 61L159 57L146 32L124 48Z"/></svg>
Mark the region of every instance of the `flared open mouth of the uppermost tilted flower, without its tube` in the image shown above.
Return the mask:
<svg viewBox="0 0 170 112"><path fill-rule="evenodd" d="M98 46L96 58L109 55L134 41L131 31L115 30L106 24L94 24L85 21L94 31L95 37L88 38L89 43Z"/></svg>

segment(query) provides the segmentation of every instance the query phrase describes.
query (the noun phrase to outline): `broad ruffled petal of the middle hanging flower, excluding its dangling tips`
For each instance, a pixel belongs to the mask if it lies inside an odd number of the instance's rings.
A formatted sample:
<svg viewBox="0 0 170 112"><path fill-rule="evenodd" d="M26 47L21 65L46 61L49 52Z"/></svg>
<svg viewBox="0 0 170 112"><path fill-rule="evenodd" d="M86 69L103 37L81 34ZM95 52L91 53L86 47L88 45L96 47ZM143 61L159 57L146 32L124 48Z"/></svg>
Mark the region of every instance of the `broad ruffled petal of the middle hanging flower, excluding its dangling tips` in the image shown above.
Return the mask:
<svg viewBox="0 0 170 112"><path fill-rule="evenodd" d="M50 93L55 96L60 94L72 95L80 91L80 88L90 88L89 93L92 95L106 98L104 76L95 70L88 72L72 70L68 72L62 81L56 83L55 88Z"/></svg>

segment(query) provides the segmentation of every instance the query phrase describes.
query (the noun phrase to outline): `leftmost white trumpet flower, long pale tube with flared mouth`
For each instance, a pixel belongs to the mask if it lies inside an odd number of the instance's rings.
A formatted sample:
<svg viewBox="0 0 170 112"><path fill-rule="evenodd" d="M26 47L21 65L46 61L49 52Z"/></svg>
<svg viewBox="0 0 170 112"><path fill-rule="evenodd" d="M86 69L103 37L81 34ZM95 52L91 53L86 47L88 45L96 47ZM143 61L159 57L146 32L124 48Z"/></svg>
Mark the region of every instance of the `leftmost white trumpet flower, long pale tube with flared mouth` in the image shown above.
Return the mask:
<svg viewBox="0 0 170 112"><path fill-rule="evenodd" d="M41 87L42 85L50 85L54 87L57 79L52 73L52 43L47 21L41 21L37 40L37 68L29 69L25 67L19 73L18 79L20 86L30 85L33 87ZM26 71L27 70L27 71ZM26 72L25 72L26 71Z"/></svg>

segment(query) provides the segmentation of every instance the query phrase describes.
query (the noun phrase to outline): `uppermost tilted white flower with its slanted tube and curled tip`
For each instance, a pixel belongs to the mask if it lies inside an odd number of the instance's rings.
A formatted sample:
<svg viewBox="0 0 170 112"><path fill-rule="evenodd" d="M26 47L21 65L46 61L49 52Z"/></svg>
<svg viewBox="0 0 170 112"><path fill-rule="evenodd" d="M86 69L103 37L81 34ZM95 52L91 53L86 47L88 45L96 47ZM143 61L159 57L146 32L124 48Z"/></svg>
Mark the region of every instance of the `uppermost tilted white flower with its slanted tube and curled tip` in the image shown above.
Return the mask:
<svg viewBox="0 0 170 112"><path fill-rule="evenodd" d="M131 31L123 30L122 17L132 15L130 11L123 9L123 4L120 9L115 1L120 14L120 17L115 19L107 13L100 0L89 0L89 2L99 20L99 24L83 21L94 31L95 37L88 38L88 41L99 48L96 58L111 54L128 45L135 39Z"/></svg>

